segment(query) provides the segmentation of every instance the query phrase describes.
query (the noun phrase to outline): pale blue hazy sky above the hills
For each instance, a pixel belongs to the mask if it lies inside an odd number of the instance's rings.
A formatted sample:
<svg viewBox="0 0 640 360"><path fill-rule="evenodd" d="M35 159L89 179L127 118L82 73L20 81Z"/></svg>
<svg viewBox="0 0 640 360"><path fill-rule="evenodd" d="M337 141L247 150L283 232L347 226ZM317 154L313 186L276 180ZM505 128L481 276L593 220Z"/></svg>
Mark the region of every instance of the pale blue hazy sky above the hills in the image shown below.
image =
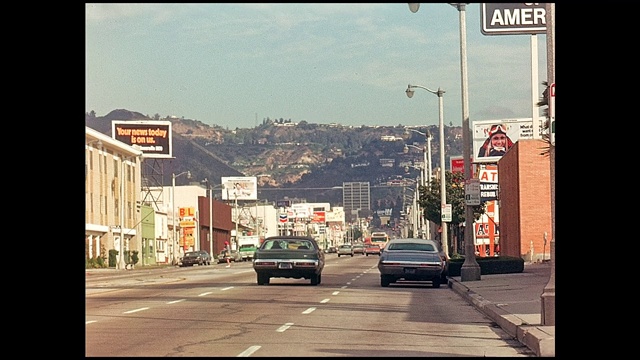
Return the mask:
<svg viewBox="0 0 640 360"><path fill-rule="evenodd" d="M466 6L470 122L531 118L546 35L483 35ZM447 3L85 4L85 110L126 109L228 129L314 124L462 126L460 21Z"/></svg>

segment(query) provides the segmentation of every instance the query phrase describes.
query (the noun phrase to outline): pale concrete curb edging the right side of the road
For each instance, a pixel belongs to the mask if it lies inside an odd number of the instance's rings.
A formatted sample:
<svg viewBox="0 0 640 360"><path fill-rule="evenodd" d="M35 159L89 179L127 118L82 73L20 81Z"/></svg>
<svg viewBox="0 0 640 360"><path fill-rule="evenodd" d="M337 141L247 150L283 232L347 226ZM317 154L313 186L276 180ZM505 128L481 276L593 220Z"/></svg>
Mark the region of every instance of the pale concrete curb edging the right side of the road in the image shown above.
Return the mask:
<svg viewBox="0 0 640 360"><path fill-rule="evenodd" d="M495 321L507 334L514 339L518 339L521 344L533 351L537 357L556 356L555 334L545 331L544 326L531 325L522 321L522 319L487 301L455 279L449 278L448 285L449 288Z"/></svg>

